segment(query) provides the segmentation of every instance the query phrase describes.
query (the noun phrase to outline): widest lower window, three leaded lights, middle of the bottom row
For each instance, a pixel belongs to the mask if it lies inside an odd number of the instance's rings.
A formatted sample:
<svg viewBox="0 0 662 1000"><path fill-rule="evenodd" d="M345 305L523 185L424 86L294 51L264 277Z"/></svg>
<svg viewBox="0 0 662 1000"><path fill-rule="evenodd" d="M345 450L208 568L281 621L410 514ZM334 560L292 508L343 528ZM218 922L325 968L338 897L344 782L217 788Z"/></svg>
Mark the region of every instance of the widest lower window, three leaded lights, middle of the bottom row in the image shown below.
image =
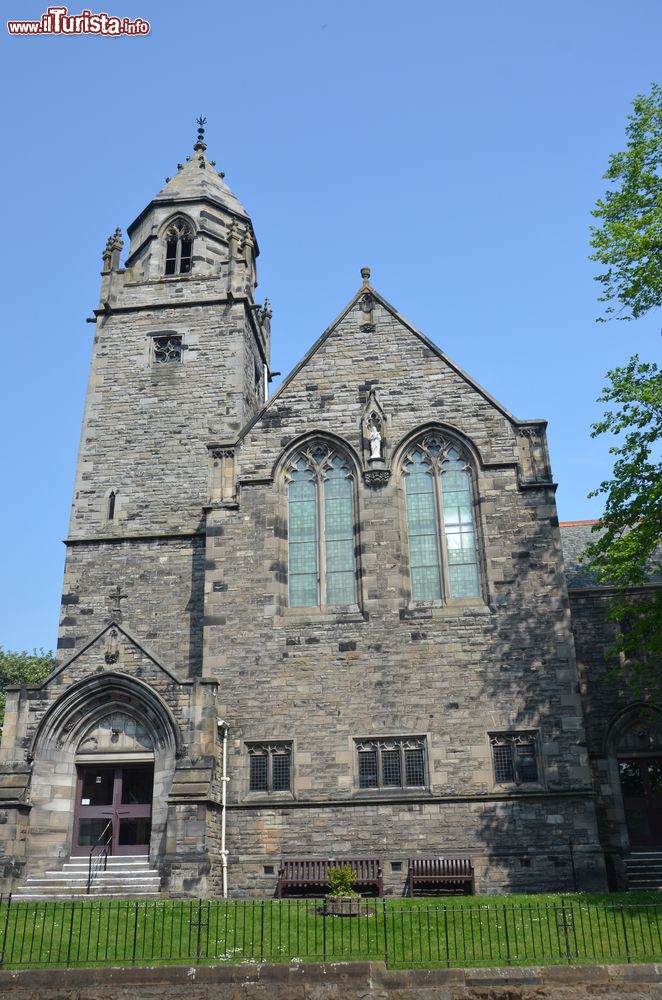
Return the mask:
<svg viewBox="0 0 662 1000"><path fill-rule="evenodd" d="M425 738L357 740L360 788L424 788Z"/></svg>

